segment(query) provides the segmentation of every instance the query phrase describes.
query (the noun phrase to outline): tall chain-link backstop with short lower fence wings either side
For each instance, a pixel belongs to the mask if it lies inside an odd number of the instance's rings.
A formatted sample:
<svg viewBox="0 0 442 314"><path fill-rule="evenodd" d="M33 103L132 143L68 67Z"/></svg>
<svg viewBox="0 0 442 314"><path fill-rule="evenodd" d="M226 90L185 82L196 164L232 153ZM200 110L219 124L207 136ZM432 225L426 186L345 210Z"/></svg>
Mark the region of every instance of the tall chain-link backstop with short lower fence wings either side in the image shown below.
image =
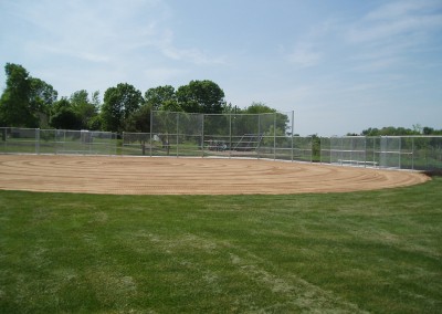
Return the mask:
<svg viewBox="0 0 442 314"><path fill-rule="evenodd" d="M309 137L293 136L293 112L151 113L150 133L124 133L124 155L246 157L312 161Z"/></svg>

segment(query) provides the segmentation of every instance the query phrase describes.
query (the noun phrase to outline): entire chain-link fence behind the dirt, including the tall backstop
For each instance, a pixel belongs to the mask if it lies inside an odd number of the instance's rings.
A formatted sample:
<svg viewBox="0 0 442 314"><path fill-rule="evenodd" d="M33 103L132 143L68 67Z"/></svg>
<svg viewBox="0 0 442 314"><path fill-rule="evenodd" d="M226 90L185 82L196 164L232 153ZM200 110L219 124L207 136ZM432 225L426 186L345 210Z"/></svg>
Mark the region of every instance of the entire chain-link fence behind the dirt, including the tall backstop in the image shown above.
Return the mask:
<svg viewBox="0 0 442 314"><path fill-rule="evenodd" d="M293 113L152 112L150 133L0 128L0 154L265 158L442 170L442 136L293 136Z"/></svg>

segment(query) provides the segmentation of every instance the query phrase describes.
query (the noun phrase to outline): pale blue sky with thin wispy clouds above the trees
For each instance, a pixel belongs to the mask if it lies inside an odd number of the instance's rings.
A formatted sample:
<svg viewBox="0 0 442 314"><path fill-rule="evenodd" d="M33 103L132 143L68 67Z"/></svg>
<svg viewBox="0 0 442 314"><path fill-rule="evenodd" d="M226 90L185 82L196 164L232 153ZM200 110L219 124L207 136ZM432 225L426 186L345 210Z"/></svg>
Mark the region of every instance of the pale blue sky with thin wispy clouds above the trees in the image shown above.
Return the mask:
<svg viewBox="0 0 442 314"><path fill-rule="evenodd" d="M0 0L7 63L59 97L210 80L303 136L442 129L441 0Z"/></svg>

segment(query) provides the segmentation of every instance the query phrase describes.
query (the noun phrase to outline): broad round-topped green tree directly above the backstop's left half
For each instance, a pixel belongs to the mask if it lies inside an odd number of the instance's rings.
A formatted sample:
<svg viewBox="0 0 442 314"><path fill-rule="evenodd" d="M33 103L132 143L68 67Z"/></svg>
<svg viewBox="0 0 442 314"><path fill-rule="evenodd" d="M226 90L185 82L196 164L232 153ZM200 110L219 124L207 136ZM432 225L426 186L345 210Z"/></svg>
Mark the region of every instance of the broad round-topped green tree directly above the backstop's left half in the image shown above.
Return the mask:
<svg viewBox="0 0 442 314"><path fill-rule="evenodd" d="M188 85L178 87L177 100L187 113L221 114L223 111L224 92L209 80L190 81Z"/></svg>

